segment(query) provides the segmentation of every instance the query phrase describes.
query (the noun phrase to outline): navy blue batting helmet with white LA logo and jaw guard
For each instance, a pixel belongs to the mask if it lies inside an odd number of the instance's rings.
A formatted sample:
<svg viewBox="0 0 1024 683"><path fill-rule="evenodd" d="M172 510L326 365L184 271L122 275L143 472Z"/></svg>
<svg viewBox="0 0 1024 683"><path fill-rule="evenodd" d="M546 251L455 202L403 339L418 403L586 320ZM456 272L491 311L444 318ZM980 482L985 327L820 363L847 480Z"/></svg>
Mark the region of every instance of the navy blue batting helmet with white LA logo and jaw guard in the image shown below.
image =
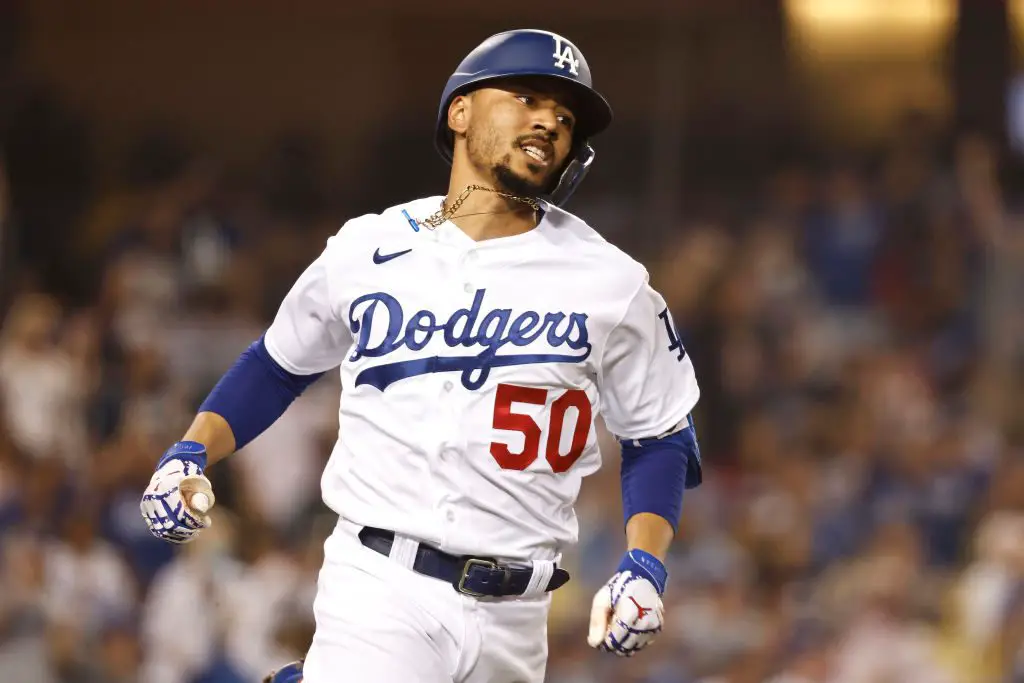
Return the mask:
<svg viewBox="0 0 1024 683"><path fill-rule="evenodd" d="M594 90L590 67L583 52L565 38L549 31L506 31L480 43L449 78L437 111L435 144L444 161L452 163L455 139L447 127L447 110L462 95L489 81L517 76L542 76L567 84L577 98L572 154L554 189L546 198L564 204L587 175L594 162L589 139L611 123L611 106Z"/></svg>

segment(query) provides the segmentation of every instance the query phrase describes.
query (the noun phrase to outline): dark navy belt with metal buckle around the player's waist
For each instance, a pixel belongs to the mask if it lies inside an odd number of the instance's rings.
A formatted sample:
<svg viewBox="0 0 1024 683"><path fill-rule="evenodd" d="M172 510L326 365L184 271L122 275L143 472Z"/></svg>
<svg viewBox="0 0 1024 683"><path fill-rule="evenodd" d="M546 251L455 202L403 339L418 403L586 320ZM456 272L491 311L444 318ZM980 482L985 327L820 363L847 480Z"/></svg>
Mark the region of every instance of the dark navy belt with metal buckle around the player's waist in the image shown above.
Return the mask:
<svg viewBox="0 0 1024 683"><path fill-rule="evenodd" d="M364 526L359 531L362 545L381 555L390 555L394 532ZM522 595L534 575L529 566L503 564L485 557L451 555L420 544L416 549L413 570L452 584L456 591L472 597L508 597ZM561 588L569 580L569 572L555 567L545 592Z"/></svg>

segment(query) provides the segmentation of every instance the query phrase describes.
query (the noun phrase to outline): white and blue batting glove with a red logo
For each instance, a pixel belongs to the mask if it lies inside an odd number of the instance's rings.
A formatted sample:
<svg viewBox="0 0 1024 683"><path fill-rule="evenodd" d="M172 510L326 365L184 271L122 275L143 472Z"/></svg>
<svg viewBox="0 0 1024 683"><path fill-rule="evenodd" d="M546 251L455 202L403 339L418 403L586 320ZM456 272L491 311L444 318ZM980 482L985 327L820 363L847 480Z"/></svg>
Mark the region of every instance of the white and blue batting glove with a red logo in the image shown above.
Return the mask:
<svg viewBox="0 0 1024 683"><path fill-rule="evenodd" d="M669 572L650 553L631 550L615 575L594 596L587 642L618 656L633 656L654 642L665 623Z"/></svg>

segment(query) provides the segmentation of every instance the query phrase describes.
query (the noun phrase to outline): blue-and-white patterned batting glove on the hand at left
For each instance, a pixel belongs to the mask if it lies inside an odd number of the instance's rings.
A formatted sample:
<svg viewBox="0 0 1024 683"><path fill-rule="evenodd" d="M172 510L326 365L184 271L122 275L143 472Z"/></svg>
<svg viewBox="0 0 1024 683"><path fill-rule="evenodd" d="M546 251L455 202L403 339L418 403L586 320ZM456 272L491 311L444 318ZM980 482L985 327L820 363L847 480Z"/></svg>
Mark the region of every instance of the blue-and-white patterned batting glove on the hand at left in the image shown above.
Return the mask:
<svg viewBox="0 0 1024 683"><path fill-rule="evenodd" d="M203 474L206 446L178 441L157 463L139 509L150 532L169 543L188 543L210 526L213 507L210 480ZM202 496L205 498L202 498Z"/></svg>

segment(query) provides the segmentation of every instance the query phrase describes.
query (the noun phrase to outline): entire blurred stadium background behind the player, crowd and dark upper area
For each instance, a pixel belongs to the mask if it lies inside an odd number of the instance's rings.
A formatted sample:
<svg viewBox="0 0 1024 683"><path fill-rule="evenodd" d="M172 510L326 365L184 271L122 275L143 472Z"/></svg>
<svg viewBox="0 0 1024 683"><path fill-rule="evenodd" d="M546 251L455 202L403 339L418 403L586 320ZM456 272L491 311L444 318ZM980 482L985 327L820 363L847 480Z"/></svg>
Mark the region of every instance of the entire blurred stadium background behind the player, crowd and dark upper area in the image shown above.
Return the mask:
<svg viewBox="0 0 1024 683"><path fill-rule="evenodd" d="M703 388L666 633L586 647L623 543L605 438L548 681L1024 681L1009 0L0 2L0 680L302 651L335 379L211 471L194 545L139 494L327 236L443 189L444 80L521 27L610 98L570 208L649 266Z"/></svg>

